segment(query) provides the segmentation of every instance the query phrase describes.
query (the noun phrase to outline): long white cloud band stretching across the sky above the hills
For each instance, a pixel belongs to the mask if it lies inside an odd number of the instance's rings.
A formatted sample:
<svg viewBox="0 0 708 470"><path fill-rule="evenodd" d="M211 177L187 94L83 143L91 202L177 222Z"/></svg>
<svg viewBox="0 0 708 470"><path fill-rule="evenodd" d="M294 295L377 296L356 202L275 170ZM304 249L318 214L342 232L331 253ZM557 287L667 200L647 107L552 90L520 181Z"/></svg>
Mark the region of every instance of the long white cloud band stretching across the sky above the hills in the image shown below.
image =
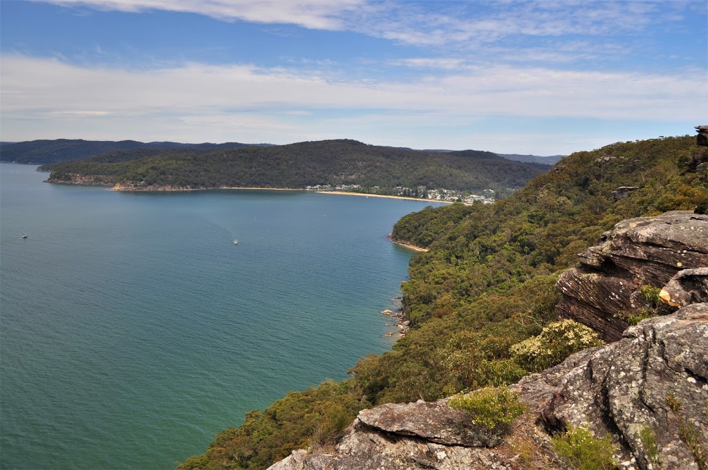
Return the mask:
<svg viewBox="0 0 708 470"><path fill-rule="evenodd" d="M186 64L150 71L2 59L4 113L391 109L462 115L698 119L702 71L668 75L467 67L418 81L342 81L295 70ZM50 78L51 77L51 78Z"/></svg>

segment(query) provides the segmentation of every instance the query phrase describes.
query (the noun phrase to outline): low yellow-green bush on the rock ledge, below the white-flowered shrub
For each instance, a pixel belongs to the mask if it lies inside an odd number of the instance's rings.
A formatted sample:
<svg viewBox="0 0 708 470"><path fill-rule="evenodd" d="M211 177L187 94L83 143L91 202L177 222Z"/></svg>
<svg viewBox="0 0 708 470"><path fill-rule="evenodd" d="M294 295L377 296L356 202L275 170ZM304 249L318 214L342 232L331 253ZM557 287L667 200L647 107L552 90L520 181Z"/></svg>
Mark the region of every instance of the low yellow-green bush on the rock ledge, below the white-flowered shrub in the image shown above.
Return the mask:
<svg viewBox="0 0 708 470"><path fill-rule="evenodd" d="M479 389L469 395L460 395L450 400L450 406L467 411L472 422L488 429L508 429L514 418L525 411L518 394L506 387Z"/></svg>

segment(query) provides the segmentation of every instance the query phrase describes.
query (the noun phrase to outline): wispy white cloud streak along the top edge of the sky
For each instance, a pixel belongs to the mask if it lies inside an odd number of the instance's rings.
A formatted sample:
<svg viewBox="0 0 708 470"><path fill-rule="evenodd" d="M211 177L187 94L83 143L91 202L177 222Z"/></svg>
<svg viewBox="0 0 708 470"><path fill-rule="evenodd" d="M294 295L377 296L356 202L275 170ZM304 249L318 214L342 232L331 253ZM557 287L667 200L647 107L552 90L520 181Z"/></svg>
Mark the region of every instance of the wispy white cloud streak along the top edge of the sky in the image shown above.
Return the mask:
<svg viewBox="0 0 708 470"><path fill-rule="evenodd" d="M687 0L372 1L372 0L34 0L63 6L198 13L223 21L351 30L377 38L470 50L510 36L604 37L679 21ZM661 14L657 14L661 11Z"/></svg>

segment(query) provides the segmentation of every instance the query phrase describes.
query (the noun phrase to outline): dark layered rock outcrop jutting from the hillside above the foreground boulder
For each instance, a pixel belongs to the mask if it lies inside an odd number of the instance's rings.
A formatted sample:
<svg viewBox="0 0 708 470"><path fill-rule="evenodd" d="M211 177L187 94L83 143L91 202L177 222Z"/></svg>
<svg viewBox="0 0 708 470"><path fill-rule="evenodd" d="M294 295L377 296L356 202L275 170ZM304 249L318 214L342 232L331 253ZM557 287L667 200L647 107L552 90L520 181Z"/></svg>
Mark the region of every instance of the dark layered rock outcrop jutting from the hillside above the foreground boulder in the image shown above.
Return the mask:
<svg viewBox="0 0 708 470"><path fill-rule="evenodd" d="M661 288L681 270L708 266L707 215L673 211L627 219L603 238L602 245L580 254L580 268L559 278L563 298L557 312L590 326L605 341L621 338L625 319L645 308L642 286Z"/></svg>

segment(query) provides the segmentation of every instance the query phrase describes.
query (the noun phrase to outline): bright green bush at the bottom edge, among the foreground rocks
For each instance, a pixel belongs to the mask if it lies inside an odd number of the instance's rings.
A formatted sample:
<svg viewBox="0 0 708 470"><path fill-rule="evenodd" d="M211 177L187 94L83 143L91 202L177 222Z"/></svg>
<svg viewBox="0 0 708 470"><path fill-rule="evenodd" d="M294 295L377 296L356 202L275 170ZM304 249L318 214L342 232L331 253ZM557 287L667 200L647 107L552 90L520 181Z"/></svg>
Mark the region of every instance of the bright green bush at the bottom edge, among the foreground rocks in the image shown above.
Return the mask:
<svg viewBox="0 0 708 470"><path fill-rule="evenodd" d="M610 435L598 439L588 428L570 426L568 432L553 437L553 449L566 464L576 470L610 470L617 468L612 457L616 446Z"/></svg>

